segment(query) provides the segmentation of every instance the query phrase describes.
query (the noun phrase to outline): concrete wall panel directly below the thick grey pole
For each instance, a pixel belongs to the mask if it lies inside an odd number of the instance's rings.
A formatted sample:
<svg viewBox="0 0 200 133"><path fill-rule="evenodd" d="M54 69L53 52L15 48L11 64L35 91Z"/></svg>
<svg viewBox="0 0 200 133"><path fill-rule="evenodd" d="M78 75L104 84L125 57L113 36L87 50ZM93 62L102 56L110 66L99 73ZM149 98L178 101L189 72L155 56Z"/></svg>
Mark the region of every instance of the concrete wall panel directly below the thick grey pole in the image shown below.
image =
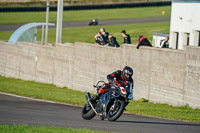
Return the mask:
<svg viewBox="0 0 200 133"><path fill-rule="evenodd" d="M73 88L74 46L56 45L53 83Z"/></svg>

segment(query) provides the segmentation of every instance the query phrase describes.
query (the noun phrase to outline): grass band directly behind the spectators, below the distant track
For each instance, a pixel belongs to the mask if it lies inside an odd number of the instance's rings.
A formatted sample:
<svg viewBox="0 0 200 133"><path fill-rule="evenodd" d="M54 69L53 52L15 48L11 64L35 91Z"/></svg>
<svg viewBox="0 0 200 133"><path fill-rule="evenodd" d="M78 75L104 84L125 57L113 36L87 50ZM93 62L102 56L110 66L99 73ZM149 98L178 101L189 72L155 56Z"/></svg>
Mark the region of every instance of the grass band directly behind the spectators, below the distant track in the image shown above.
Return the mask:
<svg viewBox="0 0 200 133"><path fill-rule="evenodd" d="M125 25L104 25L106 31L113 34L119 44L123 43L123 37L121 36L121 30L127 30L127 33L131 36L132 44L137 44L139 35L144 35L152 41L153 32L168 33L169 22L156 22L156 23L138 23L138 24L125 24ZM74 43L74 42L86 42L95 43L94 35L102 26L86 26L86 27L71 27L63 28L62 31L62 43ZM14 31L2 31L0 32L0 40L7 41ZM37 40L41 41L41 29L38 30ZM56 29L50 28L48 33L48 42L56 42Z"/></svg>

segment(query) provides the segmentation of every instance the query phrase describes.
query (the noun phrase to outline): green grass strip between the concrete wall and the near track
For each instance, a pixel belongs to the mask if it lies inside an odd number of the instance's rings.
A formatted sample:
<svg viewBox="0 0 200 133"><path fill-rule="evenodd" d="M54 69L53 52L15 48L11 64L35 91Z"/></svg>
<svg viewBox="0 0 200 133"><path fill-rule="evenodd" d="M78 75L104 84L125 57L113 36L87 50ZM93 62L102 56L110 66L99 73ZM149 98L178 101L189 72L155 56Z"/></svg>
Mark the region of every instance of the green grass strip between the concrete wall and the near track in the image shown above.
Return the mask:
<svg viewBox="0 0 200 133"><path fill-rule="evenodd" d="M0 91L79 106L83 106L86 102L85 92L3 76L0 76ZM167 104L154 104L134 100L130 102L126 109L128 110L126 113L137 115L200 122L200 109L192 109L189 106L173 107Z"/></svg>

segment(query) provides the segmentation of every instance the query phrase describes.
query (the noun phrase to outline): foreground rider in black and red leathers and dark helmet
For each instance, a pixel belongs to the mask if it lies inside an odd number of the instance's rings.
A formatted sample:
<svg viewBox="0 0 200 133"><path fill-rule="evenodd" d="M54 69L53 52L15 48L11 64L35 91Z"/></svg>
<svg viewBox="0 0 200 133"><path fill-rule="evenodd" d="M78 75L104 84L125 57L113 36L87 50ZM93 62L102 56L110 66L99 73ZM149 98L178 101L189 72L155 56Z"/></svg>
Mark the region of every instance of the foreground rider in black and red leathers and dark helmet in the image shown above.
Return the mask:
<svg viewBox="0 0 200 133"><path fill-rule="evenodd" d="M127 86L128 87L128 100L133 99L133 69L129 66L125 66L123 70L117 70L107 75L108 83L102 85L98 92L90 98L90 102L95 102L103 93L108 91L111 86Z"/></svg>

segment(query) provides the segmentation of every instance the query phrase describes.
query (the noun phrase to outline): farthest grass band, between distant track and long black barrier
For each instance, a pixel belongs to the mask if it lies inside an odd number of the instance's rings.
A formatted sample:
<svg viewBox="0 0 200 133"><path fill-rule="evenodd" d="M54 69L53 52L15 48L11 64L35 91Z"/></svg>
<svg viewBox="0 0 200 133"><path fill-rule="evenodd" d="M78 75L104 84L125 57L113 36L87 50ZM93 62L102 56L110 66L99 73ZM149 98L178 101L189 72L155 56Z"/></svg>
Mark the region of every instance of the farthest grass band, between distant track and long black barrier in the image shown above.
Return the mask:
<svg viewBox="0 0 200 133"><path fill-rule="evenodd" d="M164 16L170 16L171 6L64 11L63 21L88 20L89 22L94 18L98 18L99 21L101 21L108 19L163 17L162 11L165 11ZM57 19L57 12L50 11L49 22L56 22L56 19ZM0 24L30 23L30 22L46 22L46 12L1 12L0 13Z"/></svg>

